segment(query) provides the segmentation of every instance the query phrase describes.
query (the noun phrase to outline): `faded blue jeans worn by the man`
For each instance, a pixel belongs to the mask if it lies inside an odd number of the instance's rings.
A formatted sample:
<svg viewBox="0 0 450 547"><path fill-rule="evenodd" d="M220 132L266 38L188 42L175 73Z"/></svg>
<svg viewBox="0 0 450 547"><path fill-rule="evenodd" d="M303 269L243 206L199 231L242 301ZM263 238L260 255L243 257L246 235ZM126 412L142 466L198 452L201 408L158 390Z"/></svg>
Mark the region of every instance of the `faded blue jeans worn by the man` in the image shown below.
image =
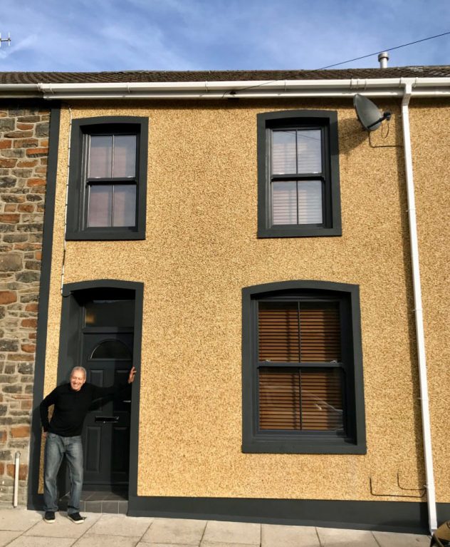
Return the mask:
<svg viewBox="0 0 450 547"><path fill-rule="evenodd" d="M44 456L43 503L44 511L58 511L58 489L56 477L66 454L70 477L70 499L67 513L80 511L80 496L83 489L83 446L81 436L62 437L48 433Z"/></svg>

